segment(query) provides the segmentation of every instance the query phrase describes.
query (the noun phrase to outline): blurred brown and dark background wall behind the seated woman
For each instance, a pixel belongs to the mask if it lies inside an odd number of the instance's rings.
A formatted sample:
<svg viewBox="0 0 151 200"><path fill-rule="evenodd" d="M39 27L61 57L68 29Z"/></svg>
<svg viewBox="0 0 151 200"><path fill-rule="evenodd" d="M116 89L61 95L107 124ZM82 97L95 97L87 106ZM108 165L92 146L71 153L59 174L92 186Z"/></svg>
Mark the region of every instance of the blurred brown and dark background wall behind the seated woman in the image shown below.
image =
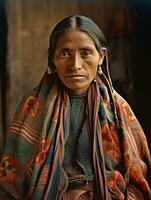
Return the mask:
<svg viewBox="0 0 151 200"><path fill-rule="evenodd" d="M74 14L106 35L113 85L151 146L151 0L0 0L0 150L19 101L47 68L51 30Z"/></svg>

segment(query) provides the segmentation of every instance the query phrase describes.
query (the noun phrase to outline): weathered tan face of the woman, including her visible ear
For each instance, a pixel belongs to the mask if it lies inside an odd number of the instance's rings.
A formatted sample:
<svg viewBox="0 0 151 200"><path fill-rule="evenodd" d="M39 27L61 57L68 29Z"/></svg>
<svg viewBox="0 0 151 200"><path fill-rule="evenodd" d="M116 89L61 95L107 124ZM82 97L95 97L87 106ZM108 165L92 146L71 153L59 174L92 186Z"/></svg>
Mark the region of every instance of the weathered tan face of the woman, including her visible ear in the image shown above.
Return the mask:
<svg viewBox="0 0 151 200"><path fill-rule="evenodd" d="M94 41L88 34L72 30L58 38L54 64L62 83L71 92L82 94L87 91L103 58L104 51L97 51Z"/></svg>

